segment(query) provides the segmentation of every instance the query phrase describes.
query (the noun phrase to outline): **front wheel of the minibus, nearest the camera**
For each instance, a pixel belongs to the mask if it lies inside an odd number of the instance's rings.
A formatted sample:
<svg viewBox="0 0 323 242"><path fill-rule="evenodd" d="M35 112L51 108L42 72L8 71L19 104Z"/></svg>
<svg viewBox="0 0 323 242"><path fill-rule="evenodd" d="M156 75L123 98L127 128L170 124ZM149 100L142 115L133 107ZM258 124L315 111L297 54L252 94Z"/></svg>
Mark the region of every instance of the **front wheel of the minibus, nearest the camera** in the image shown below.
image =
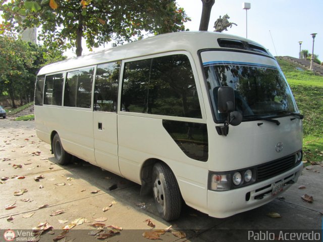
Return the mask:
<svg viewBox="0 0 323 242"><path fill-rule="evenodd" d="M172 170L163 163L152 169L153 196L159 215L166 221L179 218L182 199L177 180Z"/></svg>

